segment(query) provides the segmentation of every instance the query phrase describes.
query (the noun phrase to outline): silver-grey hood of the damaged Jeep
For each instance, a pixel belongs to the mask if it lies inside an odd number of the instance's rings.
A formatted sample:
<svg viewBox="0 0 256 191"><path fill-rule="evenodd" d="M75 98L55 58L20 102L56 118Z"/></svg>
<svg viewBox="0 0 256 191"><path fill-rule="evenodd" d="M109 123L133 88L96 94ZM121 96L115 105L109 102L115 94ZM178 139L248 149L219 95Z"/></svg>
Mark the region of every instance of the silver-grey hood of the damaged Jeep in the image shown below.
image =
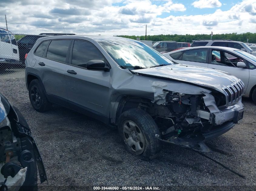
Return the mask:
<svg viewBox="0 0 256 191"><path fill-rule="evenodd" d="M238 78L227 72L184 64L138 69L133 70L132 72L153 78L181 81L188 84L215 89L220 92L223 92L223 87L238 81Z"/></svg>

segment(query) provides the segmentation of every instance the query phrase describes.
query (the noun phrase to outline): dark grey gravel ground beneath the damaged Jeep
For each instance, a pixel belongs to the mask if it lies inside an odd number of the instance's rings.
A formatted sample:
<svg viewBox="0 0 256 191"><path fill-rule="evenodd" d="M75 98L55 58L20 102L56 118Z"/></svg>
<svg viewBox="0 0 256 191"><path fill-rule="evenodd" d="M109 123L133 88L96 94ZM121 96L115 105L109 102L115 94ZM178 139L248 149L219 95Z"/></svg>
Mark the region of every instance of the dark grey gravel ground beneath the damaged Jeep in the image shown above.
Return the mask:
<svg viewBox="0 0 256 191"><path fill-rule="evenodd" d="M56 190L56 186L256 189L256 105L250 99L243 98L243 122L207 142L218 149L206 155L243 174L243 179L194 151L172 145L163 145L153 161L139 160L125 151L117 130L100 121L57 105L36 112L29 102L24 72L14 73L0 75L0 91L21 111L42 154L48 184L41 184L40 190Z"/></svg>

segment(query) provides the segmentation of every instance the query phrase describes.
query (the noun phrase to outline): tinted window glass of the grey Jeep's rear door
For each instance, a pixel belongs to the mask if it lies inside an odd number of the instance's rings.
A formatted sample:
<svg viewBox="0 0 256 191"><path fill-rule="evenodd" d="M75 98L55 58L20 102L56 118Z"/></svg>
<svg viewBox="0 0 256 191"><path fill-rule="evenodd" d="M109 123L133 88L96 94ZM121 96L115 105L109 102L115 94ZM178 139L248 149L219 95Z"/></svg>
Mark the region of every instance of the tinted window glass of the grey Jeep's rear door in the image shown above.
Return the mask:
<svg viewBox="0 0 256 191"><path fill-rule="evenodd" d="M52 40L48 47L46 58L66 62L69 45L70 40Z"/></svg>

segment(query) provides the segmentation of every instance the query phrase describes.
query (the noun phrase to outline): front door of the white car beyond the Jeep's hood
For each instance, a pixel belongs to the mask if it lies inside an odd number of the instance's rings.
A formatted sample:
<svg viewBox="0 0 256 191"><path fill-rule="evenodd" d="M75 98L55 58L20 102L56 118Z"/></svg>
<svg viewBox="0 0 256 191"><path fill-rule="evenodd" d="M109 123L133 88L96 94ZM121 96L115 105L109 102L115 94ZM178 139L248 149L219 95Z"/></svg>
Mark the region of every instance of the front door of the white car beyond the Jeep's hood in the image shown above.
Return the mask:
<svg viewBox="0 0 256 191"><path fill-rule="evenodd" d="M231 75L236 76L244 82L244 92L249 82L249 69L239 68L236 66L237 62L246 62L242 57L237 54L224 51L221 49L210 49L211 58L209 58L208 68L214 68Z"/></svg>

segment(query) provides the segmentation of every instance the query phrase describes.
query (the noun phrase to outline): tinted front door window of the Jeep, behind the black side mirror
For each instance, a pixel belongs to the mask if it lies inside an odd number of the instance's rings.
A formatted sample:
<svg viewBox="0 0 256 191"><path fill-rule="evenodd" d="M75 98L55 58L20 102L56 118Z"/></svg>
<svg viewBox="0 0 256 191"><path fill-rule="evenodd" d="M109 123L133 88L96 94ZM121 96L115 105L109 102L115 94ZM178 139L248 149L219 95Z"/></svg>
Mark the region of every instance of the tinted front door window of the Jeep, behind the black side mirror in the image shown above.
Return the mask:
<svg viewBox="0 0 256 191"><path fill-rule="evenodd" d="M86 68L86 63L90 60L102 60L106 63L104 56L92 43L75 40L72 64Z"/></svg>

